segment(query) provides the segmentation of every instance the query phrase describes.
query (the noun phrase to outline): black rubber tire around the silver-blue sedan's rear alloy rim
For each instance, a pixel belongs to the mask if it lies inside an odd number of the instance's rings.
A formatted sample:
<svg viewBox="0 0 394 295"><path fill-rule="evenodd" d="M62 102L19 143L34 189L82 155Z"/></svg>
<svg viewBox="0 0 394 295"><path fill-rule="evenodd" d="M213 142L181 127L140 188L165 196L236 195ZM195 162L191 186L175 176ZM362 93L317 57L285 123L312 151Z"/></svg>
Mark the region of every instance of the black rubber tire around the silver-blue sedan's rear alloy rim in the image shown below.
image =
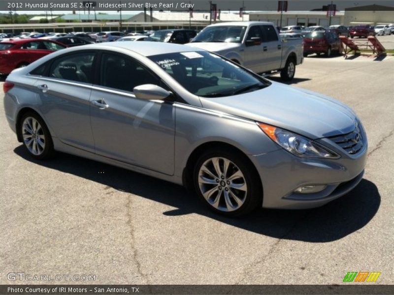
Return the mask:
<svg viewBox="0 0 394 295"><path fill-rule="evenodd" d="M35 144L35 150L40 150L40 148L42 149L39 153L35 154L33 152L33 146L34 146L34 142L32 143L32 147L28 147L28 143L29 143L29 137L25 138L25 136L29 136L31 133L25 128L24 122L26 119L28 118L33 118L35 119L40 128L37 128L36 133L33 135L35 137L39 136L40 139L37 138L37 143ZM34 128L34 127L33 127ZM53 141L52 141L52 137L51 134L48 130L48 127L46 126L44 120L37 115L34 112L27 112L25 113L19 121L19 132L22 138L22 142L23 142L23 146L25 147L25 149L27 150L27 152L29 153L30 156L32 156L33 158L37 159L37 160L45 160L45 159L49 159L51 158L54 153L55 153L55 149L53 147ZM24 136L25 135L25 136ZM33 140L33 139L32 139ZM40 140L40 142L44 143L44 148L42 148L41 146L38 147L38 140Z"/></svg>

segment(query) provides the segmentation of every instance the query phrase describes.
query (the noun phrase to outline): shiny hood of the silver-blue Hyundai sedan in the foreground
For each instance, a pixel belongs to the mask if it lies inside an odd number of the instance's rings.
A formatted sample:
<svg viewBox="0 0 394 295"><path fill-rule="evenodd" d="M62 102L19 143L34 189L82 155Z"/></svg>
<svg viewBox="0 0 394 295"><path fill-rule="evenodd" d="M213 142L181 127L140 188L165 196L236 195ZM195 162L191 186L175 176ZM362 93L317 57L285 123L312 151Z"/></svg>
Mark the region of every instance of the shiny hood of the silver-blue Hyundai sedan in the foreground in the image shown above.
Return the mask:
<svg viewBox="0 0 394 295"><path fill-rule="evenodd" d="M276 82L253 92L200 100L206 109L271 124L310 139L345 134L355 128L356 115L345 104Z"/></svg>

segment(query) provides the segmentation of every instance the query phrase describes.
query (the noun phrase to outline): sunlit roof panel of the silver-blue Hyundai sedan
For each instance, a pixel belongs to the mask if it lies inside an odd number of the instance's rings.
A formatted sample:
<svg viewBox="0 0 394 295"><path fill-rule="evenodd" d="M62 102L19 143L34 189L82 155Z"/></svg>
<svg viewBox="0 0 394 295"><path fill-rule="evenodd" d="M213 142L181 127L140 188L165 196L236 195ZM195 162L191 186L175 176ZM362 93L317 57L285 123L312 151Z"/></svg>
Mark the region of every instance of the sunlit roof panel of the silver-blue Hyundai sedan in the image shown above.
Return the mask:
<svg viewBox="0 0 394 295"><path fill-rule="evenodd" d="M85 45L84 48L92 48L92 49L103 49L105 47L111 48L122 48L133 51L137 54L140 54L145 57L160 55L160 54L168 54L175 52L187 52L187 51L205 51L200 48L185 46L181 44L175 43L164 43L164 42L104 42L104 43L95 43Z"/></svg>

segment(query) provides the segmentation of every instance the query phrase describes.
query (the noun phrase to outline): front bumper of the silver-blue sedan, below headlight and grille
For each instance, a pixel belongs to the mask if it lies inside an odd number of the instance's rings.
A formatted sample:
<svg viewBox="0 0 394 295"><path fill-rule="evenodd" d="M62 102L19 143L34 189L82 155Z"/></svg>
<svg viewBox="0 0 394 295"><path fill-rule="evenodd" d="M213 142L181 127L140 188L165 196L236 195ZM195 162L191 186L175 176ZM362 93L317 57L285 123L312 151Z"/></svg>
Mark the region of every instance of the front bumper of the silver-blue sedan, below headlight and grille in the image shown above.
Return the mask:
<svg viewBox="0 0 394 295"><path fill-rule="evenodd" d="M263 184L263 207L306 209L320 207L351 191L361 181L366 148L357 156L339 159L300 158L284 149L251 156ZM294 190L303 185L327 185L317 193Z"/></svg>

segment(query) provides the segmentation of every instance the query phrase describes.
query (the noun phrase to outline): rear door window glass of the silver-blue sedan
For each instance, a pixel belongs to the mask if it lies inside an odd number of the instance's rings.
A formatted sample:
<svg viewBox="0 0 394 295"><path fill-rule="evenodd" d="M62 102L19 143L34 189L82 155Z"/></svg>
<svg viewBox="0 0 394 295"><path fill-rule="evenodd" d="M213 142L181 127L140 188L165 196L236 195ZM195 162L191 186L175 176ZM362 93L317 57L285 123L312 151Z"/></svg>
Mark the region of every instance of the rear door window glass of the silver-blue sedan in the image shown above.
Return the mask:
<svg viewBox="0 0 394 295"><path fill-rule="evenodd" d="M76 53L55 59L49 71L49 77L93 83L93 52Z"/></svg>

